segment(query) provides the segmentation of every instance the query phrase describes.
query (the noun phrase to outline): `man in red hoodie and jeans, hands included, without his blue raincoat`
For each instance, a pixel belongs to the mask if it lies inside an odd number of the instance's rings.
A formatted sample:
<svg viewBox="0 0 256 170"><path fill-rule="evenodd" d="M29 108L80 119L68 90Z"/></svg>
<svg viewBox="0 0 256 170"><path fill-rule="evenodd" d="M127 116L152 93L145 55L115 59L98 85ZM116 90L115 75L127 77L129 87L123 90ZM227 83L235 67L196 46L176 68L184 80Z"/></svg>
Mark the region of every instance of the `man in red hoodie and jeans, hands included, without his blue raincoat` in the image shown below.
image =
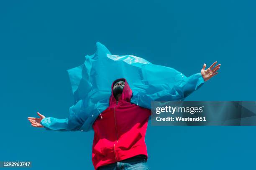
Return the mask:
<svg viewBox="0 0 256 170"><path fill-rule="evenodd" d="M204 81L216 75L220 64L207 70L204 64L201 75ZM212 69L213 68L213 69ZM131 103L133 91L124 79L115 80L111 86L109 106L93 123L94 140L92 163L95 170L148 169L145 135L151 110ZM44 127L45 118L28 117L34 127Z"/></svg>

